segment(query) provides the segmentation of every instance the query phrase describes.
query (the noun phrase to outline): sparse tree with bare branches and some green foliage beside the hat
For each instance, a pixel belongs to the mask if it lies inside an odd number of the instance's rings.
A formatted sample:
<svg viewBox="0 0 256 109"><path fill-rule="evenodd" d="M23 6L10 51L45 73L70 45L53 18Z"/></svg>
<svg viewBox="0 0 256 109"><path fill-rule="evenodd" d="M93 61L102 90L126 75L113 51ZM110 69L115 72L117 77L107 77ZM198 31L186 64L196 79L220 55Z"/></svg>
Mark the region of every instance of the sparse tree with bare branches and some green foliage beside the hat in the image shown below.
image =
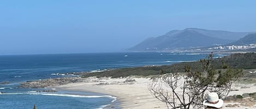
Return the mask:
<svg viewBox="0 0 256 109"><path fill-rule="evenodd" d="M213 69L213 54L200 60L200 67L193 70L185 66L185 73L167 73L152 78L148 89L168 108L202 108L206 94L216 92L224 99L231 85L242 76L242 70Z"/></svg>

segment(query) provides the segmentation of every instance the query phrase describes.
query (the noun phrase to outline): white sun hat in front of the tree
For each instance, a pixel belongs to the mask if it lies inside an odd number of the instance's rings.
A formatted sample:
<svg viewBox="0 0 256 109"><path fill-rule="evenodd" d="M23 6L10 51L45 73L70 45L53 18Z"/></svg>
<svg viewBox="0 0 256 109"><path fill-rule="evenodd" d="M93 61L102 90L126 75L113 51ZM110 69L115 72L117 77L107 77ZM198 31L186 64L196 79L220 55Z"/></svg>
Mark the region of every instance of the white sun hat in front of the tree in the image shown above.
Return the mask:
<svg viewBox="0 0 256 109"><path fill-rule="evenodd" d="M219 99L219 96L216 92L212 92L208 94L207 100L203 102L203 105L221 108L223 105L223 100Z"/></svg>

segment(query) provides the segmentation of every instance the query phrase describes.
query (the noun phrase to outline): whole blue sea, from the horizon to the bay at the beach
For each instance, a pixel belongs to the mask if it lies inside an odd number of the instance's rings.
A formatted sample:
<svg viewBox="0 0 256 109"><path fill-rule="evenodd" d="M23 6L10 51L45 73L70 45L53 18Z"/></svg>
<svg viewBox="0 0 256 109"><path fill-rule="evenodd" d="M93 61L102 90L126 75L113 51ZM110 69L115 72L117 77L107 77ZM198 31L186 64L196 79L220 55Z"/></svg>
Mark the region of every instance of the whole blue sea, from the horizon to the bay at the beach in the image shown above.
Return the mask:
<svg viewBox="0 0 256 109"><path fill-rule="evenodd" d="M127 56L125 56L127 55ZM146 65L170 65L197 61L207 54L193 53L85 53L0 56L0 108L102 108L115 98L97 93L65 92L34 93L37 89L19 88L27 80L57 78L52 73L83 72L95 69ZM217 55L218 56L218 55ZM219 54L223 56L223 54Z"/></svg>

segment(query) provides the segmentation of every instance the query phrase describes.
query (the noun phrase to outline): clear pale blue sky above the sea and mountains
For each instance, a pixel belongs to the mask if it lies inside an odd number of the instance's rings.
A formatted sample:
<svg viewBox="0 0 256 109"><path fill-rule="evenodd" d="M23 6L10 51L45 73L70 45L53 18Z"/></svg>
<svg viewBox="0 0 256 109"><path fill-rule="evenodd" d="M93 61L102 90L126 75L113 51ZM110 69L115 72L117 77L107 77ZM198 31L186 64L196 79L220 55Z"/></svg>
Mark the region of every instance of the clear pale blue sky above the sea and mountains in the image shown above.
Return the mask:
<svg viewBox="0 0 256 109"><path fill-rule="evenodd" d="M0 55L124 52L170 30L256 31L256 1L0 1Z"/></svg>

